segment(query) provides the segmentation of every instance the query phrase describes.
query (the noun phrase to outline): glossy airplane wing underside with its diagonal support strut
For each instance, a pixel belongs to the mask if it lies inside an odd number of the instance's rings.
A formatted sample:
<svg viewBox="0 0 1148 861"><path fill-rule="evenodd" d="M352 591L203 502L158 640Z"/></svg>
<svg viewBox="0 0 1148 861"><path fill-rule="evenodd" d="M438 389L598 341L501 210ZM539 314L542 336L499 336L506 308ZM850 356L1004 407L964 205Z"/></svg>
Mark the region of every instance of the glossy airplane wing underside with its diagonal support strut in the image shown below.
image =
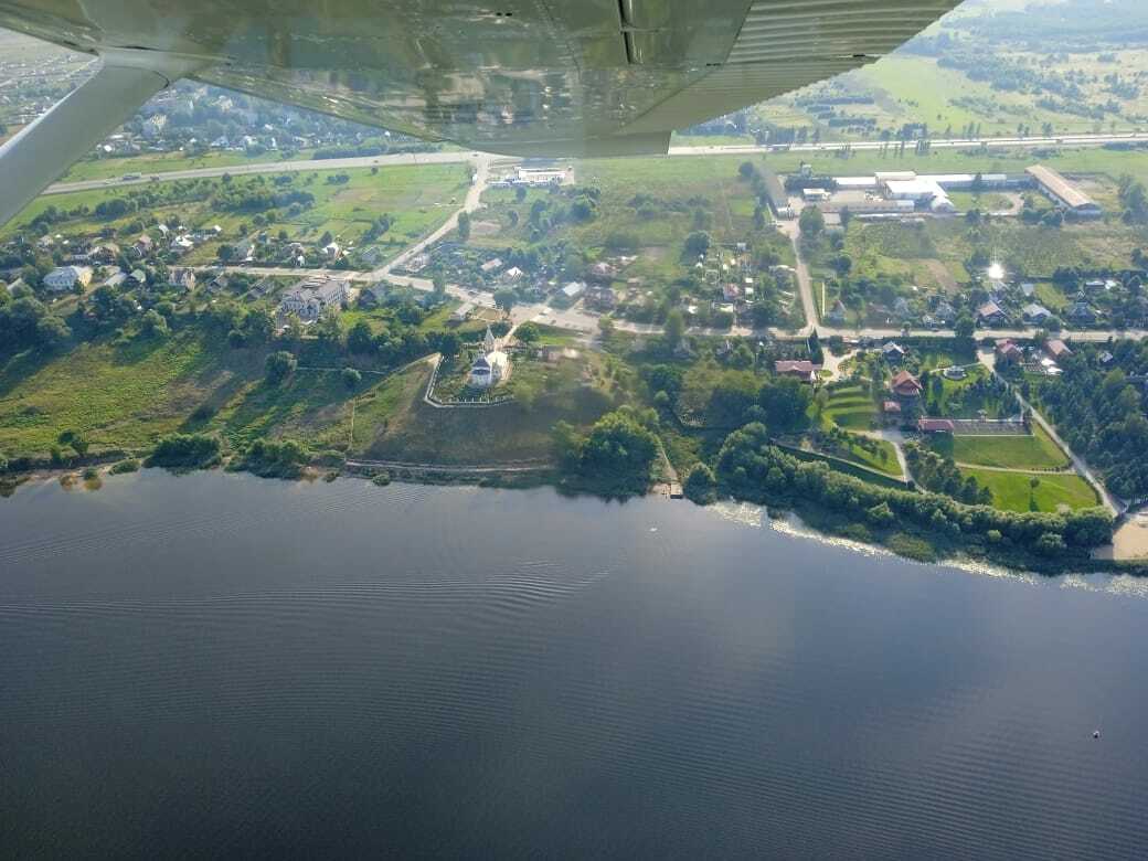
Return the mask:
<svg viewBox="0 0 1148 861"><path fill-rule="evenodd" d="M0 26L103 57L39 121L68 146L33 124L0 148L0 224L26 202L10 181L34 196L181 77L487 152L665 153L670 130L877 60L957 2L0 0Z"/></svg>

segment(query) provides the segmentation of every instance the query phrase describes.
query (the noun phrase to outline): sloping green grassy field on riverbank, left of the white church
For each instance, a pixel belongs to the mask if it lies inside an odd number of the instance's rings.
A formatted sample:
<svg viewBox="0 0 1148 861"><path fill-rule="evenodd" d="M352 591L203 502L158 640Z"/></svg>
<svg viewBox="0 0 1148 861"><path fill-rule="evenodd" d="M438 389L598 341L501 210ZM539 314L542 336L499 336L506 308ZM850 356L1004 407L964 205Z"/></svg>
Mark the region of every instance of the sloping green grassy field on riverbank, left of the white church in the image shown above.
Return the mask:
<svg viewBox="0 0 1148 861"><path fill-rule="evenodd" d="M346 449L351 401L365 445L397 403L396 375L364 373L350 389L338 371L300 369L286 382L263 380L264 352L183 331L165 341L104 339L40 363L21 354L0 367L0 452L44 457L63 430L93 453L144 451L176 430L219 433L231 445L295 439L312 449Z"/></svg>

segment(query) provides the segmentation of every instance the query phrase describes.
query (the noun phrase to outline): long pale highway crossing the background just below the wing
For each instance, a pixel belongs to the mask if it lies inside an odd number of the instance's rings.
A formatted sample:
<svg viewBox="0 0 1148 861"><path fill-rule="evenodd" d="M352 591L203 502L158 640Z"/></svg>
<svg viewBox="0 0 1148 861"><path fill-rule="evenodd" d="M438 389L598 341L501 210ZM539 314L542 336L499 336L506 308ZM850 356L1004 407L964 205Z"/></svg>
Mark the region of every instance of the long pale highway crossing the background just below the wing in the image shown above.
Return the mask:
<svg viewBox="0 0 1148 861"><path fill-rule="evenodd" d="M1064 134L1058 138L946 138L931 140L932 149L963 149L969 147L1041 147L1041 146L1072 146L1072 147L1100 147L1106 144L1127 144L1132 141L1143 141L1148 145L1148 132L1120 132L1117 134ZM844 148L854 152L879 150L883 147L894 147L895 141L886 142L881 140L859 141L833 141L827 144L801 144L792 146L755 146L755 145L727 145L727 146L699 146L699 147L670 147L668 156L712 156L712 155L762 155L767 153L836 153ZM250 164L235 164L226 168L192 168L188 170L172 170L163 172L142 173L138 179L124 179L114 177L108 179L86 179L77 183L56 183L44 191L44 194L67 194L70 192L88 192L99 188L118 188L121 186L145 185L152 181L172 181L177 179L202 179L208 177L222 177L224 173L233 177L248 176L253 173L293 173L315 170L354 170L360 168L385 168L393 165L412 164L460 164L463 162L492 161L519 161L512 156L499 156L491 154L480 154L465 150L450 150L445 153L406 153L402 155L379 155L364 156L357 158L321 158L290 162L254 162ZM124 173L132 173L132 162L124 158Z"/></svg>

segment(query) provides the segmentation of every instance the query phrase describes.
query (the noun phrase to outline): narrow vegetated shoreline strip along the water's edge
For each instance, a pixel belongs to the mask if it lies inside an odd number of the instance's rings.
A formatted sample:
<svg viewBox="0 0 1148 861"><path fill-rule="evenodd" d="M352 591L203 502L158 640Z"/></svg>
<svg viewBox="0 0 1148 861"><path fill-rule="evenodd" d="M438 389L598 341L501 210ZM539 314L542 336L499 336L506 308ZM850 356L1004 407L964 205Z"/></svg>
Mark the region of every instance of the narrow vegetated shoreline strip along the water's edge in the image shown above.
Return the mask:
<svg viewBox="0 0 1148 861"><path fill-rule="evenodd" d="M87 458L88 463L71 467L44 467L25 473L16 473L5 476L3 498L14 497L21 487L32 483L48 484L59 482L69 492L83 490L95 492L100 490L103 482L116 476L113 466L124 459L123 455L115 458ZM96 478L85 480L84 472L94 470ZM1011 575L1033 575L1041 577L1058 577L1089 574L1112 574L1127 575L1133 577L1148 577L1148 558L1145 559L1115 559L1110 556L1089 556L1087 559L1058 560L1035 560L1024 554L1011 554L1014 558L1002 558L991 553L969 552L969 548L954 545L953 543L938 545L937 542L923 534L921 530L905 529L886 536L886 541L876 541L872 536L859 536L856 527L863 527L858 520L853 521L843 518L822 506L812 504L778 504L759 503L748 499L738 499L732 496L721 496L707 505L698 505L689 499L672 499L657 494L653 486L645 494L620 496L602 492L584 483L563 482L558 479L552 466L538 466L535 470L522 471L509 467L507 472L498 472L494 467L482 467L484 472L476 473L473 468L458 466L429 466L419 465L398 468L382 468L370 465L341 465L339 467L323 467L308 465L301 468L296 475L274 476L259 475L249 470L234 468L231 464L216 464L205 468L170 470L162 466L144 466L132 473L141 473L145 470L158 470L173 475L189 472L212 472L219 470L223 473L238 472L251 475L256 479L269 481L296 481L313 483L316 481L333 482L336 479L349 478L360 481L369 481L380 487L386 487L391 482L425 486L470 486L491 490L527 490L538 487L550 487L561 496L594 496L603 502L614 502L633 496L653 497L666 503L683 502L697 505L699 509L715 509L722 505L752 506L761 514L762 523L786 522L788 529L793 535L806 540L829 541L835 544L847 546L854 552L878 552L889 553L901 559L921 564L955 565L957 567L975 567L977 569L991 567L1007 572ZM126 474L132 474L126 473ZM793 527L793 521L797 527ZM899 537L903 536L903 537ZM889 541L892 538L892 541ZM1111 551L1112 545L1102 545L1101 551Z"/></svg>

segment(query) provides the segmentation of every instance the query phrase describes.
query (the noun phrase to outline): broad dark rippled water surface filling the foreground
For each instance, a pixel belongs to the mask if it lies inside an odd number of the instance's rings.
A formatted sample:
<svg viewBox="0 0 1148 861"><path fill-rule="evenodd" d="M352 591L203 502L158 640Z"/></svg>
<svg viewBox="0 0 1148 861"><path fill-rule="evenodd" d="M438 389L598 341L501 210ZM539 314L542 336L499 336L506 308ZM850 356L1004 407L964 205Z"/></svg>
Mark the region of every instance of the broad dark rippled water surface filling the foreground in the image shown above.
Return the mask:
<svg viewBox="0 0 1148 861"><path fill-rule="evenodd" d="M1143 858L1146 622L748 510L26 487L0 856Z"/></svg>

